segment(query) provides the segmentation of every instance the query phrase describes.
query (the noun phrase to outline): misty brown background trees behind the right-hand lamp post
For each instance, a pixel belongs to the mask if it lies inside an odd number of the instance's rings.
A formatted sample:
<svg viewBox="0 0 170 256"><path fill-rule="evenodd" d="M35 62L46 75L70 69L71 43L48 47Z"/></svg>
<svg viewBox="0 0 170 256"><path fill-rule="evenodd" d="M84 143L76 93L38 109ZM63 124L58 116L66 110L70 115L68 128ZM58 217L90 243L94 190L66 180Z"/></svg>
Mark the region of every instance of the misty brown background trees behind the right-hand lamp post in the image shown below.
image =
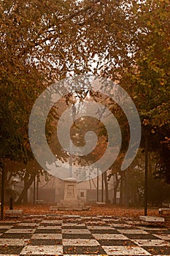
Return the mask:
<svg viewBox="0 0 170 256"><path fill-rule="evenodd" d="M157 159L155 154L149 154L148 165L148 203L150 206L162 206L163 203L169 203L170 185L163 178L157 176ZM124 172L108 172L108 177L115 176L115 186L113 195L107 198L106 202L113 198L114 204L124 206L144 206L144 152L139 151L134 163ZM109 181L107 181L110 183ZM120 192L120 198L117 201L117 191Z"/></svg>

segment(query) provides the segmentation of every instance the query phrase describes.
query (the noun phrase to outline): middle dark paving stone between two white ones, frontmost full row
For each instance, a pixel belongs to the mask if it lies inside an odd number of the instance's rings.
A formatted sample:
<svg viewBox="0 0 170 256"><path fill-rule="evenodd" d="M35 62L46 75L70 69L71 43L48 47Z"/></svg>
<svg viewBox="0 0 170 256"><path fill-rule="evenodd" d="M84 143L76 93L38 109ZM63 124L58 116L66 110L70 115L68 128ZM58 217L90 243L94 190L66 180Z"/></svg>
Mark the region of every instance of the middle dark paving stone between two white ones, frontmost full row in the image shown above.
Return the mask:
<svg viewBox="0 0 170 256"><path fill-rule="evenodd" d="M63 254L106 255L101 246L63 246Z"/></svg>

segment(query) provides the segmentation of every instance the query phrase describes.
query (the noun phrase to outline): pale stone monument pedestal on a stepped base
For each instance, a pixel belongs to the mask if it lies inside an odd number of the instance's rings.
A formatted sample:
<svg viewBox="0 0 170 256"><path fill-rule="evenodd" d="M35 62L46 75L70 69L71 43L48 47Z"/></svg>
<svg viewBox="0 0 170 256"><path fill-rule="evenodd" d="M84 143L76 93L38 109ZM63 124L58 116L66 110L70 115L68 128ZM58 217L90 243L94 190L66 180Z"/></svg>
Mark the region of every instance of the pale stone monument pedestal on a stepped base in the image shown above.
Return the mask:
<svg viewBox="0 0 170 256"><path fill-rule="evenodd" d="M77 198L77 179L66 178L64 180L64 197L57 206L51 207L51 210L58 211L85 211L89 210L88 206L82 200Z"/></svg>

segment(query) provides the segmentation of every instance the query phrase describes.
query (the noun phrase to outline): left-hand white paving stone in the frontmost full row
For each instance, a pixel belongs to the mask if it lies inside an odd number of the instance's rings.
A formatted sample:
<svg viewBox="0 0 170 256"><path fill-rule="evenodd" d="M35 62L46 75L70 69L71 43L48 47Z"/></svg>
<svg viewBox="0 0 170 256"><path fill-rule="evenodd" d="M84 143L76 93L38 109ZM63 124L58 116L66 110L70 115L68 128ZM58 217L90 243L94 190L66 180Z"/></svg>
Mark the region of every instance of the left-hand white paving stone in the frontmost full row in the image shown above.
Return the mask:
<svg viewBox="0 0 170 256"><path fill-rule="evenodd" d="M63 246L28 245L22 249L20 255L63 255Z"/></svg>

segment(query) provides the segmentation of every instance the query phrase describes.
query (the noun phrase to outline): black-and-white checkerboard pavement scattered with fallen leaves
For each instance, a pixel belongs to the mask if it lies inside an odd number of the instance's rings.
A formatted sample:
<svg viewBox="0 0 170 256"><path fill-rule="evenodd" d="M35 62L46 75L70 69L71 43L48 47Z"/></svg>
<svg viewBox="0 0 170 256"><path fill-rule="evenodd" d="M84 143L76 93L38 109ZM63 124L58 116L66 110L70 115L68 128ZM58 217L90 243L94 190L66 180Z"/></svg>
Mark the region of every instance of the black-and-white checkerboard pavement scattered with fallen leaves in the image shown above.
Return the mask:
<svg viewBox="0 0 170 256"><path fill-rule="evenodd" d="M170 230L113 217L31 216L0 222L2 255L170 255Z"/></svg>

